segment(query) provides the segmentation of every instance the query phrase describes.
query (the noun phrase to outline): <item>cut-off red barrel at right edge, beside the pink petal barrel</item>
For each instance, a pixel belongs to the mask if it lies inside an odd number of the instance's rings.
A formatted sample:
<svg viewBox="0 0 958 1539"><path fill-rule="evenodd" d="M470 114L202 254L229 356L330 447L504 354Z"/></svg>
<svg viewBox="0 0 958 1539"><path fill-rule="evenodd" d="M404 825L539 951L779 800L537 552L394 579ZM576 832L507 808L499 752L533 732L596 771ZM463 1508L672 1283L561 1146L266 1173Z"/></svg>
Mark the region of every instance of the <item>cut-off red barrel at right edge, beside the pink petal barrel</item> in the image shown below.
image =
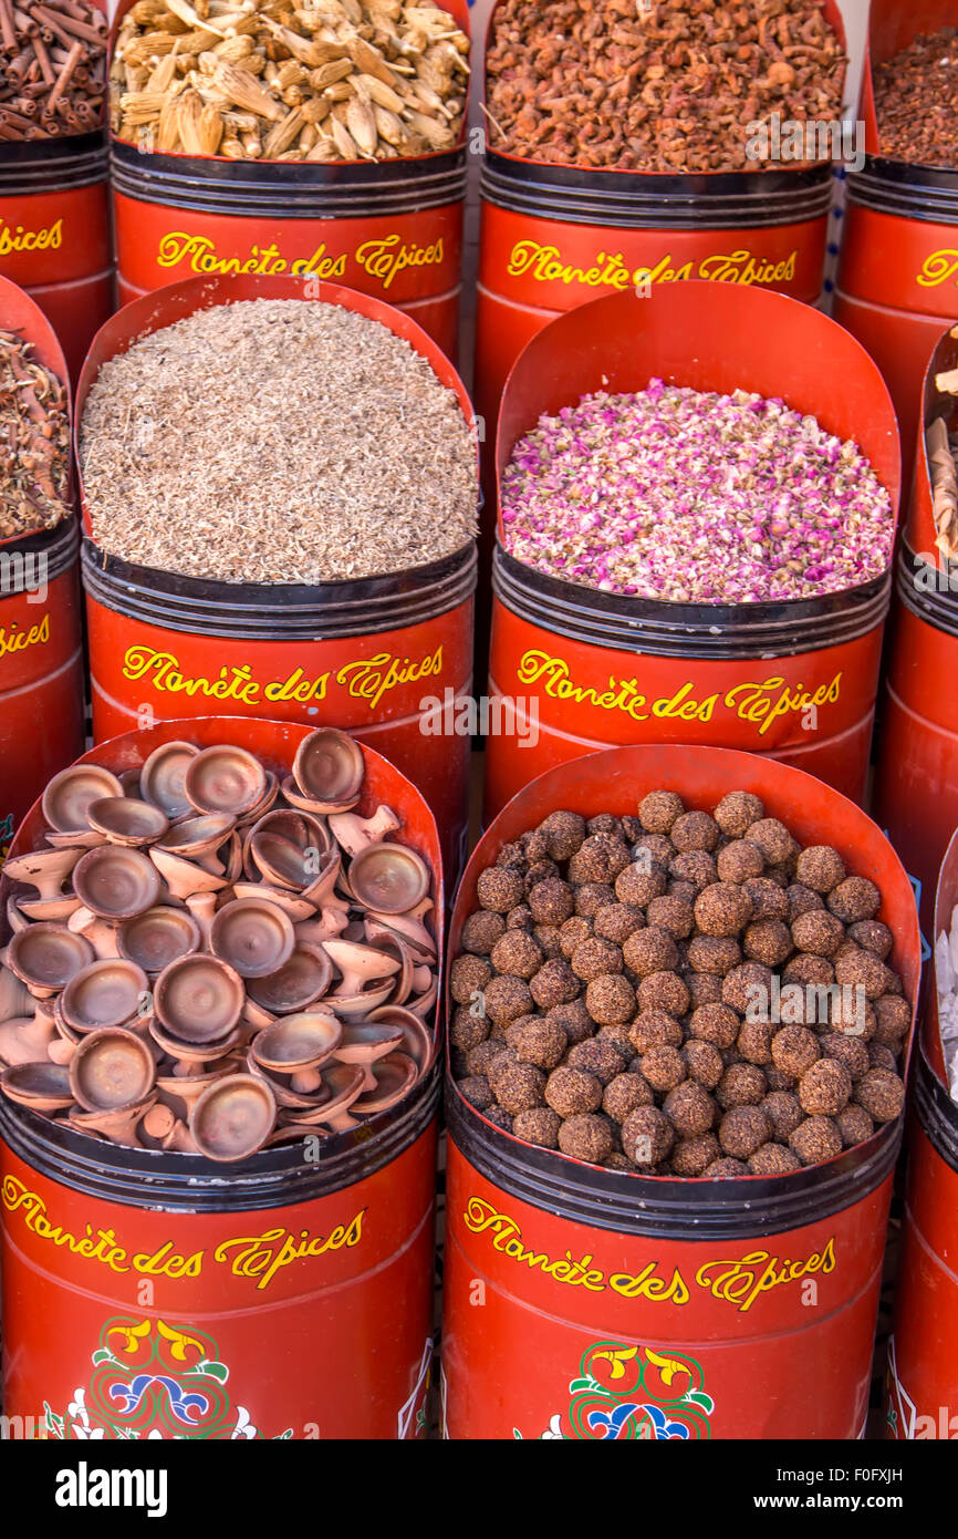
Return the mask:
<svg viewBox="0 0 958 1539"><path fill-rule="evenodd" d="M927 362L927 360L926 360ZM958 576L935 548L932 477L924 432L935 417L958 422L935 376L958 366L958 337L938 339L924 376L915 480L895 563L895 609L884 677L875 816L918 883L921 919L932 920L935 883L958 826Z"/></svg>

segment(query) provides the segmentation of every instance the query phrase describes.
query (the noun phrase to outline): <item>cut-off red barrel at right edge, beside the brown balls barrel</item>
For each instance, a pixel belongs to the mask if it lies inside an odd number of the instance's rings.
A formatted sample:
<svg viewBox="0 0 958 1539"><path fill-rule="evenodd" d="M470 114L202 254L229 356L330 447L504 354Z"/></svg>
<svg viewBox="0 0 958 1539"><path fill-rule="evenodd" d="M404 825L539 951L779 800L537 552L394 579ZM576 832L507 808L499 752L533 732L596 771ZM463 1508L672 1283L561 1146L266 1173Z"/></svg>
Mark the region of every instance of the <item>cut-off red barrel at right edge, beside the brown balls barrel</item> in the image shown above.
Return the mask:
<svg viewBox="0 0 958 1539"><path fill-rule="evenodd" d="M958 834L941 865L935 936L958 903ZM958 1437L958 1107L949 1094L935 960L909 1123L909 1177L895 1324L889 1339L887 1436Z"/></svg>

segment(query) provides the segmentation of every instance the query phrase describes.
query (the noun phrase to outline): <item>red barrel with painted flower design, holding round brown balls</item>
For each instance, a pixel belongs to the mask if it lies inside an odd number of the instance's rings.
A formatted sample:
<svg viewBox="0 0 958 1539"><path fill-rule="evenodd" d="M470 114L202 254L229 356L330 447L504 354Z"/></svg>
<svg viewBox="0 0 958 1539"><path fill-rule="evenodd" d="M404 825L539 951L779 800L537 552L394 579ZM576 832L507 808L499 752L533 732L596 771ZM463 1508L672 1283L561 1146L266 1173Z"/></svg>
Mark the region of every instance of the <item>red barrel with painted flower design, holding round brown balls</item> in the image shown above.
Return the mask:
<svg viewBox="0 0 958 1539"><path fill-rule="evenodd" d="M710 748L618 748L521 791L466 868L449 954L504 843L558 808L634 811L654 788L709 810L753 791L797 839L835 845L881 886L892 965L915 997L915 903L878 828L789 765ZM900 1123L793 1176L712 1182L520 1143L451 1080L447 1120L446 1436L863 1434Z"/></svg>

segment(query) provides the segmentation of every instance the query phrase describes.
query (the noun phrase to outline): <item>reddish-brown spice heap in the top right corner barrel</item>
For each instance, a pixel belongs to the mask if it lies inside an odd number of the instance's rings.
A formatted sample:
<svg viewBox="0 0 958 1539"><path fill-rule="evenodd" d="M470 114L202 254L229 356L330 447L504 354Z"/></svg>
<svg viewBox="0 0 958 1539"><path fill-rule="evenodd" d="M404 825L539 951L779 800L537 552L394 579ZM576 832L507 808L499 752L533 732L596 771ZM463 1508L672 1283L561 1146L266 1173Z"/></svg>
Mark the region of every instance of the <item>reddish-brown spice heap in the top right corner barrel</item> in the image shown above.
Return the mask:
<svg viewBox="0 0 958 1539"><path fill-rule="evenodd" d="M958 31L921 35L875 69L881 154L958 169Z"/></svg>

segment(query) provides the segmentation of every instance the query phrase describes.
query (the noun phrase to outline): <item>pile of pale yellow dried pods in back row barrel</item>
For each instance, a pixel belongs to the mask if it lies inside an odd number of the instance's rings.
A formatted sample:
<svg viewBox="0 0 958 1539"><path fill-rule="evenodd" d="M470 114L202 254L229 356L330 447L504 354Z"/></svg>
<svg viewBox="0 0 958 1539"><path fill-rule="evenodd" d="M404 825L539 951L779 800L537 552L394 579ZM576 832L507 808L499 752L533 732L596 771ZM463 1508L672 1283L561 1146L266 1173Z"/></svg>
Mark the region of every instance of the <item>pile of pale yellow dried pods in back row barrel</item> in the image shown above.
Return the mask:
<svg viewBox="0 0 958 1539"><path fill-rule="evenodd" d="M395 160L452 149L469 38L421 0L137 0L112 131L160 154Z"/></svg>

